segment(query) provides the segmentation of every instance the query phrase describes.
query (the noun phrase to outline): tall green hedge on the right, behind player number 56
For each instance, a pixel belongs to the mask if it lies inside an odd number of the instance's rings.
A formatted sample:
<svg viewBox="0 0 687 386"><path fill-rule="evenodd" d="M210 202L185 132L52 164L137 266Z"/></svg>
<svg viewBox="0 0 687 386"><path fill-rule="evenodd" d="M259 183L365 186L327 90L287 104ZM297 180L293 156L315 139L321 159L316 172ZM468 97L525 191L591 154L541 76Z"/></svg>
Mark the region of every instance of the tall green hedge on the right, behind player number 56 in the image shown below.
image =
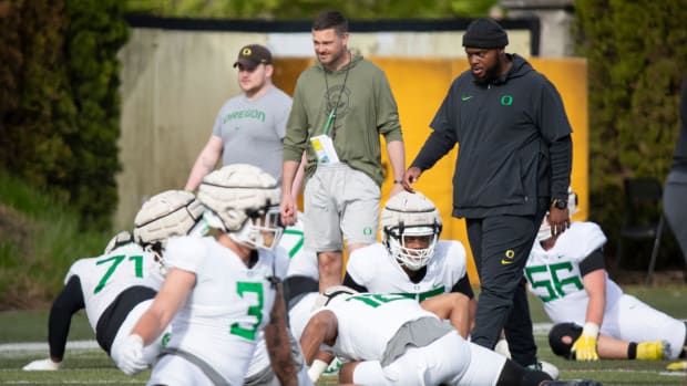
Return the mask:
<svg viewBox="0 0 687 386"><path fill-rule="evenodd" d="M684 0L577 0L575 13L589 76L589 212L613 246L623 178L663 181L670 167L687 72L687 7ZM635 254L636 267L645 269L645 260Z"/></svg>

